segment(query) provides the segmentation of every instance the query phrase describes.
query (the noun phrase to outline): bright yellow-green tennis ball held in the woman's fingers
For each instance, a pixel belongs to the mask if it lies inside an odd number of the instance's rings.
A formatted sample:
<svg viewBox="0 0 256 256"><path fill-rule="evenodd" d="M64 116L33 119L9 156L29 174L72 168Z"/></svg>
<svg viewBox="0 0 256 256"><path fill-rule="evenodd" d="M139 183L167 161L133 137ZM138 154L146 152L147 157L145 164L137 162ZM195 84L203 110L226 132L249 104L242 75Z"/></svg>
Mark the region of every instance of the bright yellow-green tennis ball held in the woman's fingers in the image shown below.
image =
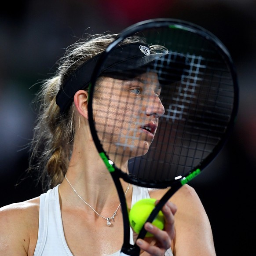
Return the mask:
<svg viewBox="0 0 256 256"><path fill-rule="evenodd" d="M129 212L129 222L132 229L139 234L139 231L144 226L146 219L150 216L150 213L155 207L154 198L145 198L137 201L131 208ZM153 220L152 224L161 230L165 226L165 218L162 211L158 212L156 218ZM152 237L153 235L149 232L146 233L146 237Z"/></svg>

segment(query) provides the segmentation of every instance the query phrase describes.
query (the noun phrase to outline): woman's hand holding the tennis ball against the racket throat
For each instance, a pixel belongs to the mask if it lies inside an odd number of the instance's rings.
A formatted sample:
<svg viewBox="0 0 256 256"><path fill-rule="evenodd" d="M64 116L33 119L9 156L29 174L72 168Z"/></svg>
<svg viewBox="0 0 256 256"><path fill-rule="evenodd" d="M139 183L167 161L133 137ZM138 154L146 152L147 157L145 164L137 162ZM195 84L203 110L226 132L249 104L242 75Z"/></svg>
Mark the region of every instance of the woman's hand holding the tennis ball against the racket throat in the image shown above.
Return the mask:
<svg viewBox="0 0 256 256"><path fill-rule="evenodd" d="M156 204L159 200L156 201ZM160 230L151 223L145 223L145 230L154 235L154 237L138 239L136 244L141 249L140 255L164 256L167 249L171 247L172 240L175 237L174 215L177 211L176 205L167 202L162 208L165 216L165 228ZM136 238L137 235L134 237Z"/></svg>

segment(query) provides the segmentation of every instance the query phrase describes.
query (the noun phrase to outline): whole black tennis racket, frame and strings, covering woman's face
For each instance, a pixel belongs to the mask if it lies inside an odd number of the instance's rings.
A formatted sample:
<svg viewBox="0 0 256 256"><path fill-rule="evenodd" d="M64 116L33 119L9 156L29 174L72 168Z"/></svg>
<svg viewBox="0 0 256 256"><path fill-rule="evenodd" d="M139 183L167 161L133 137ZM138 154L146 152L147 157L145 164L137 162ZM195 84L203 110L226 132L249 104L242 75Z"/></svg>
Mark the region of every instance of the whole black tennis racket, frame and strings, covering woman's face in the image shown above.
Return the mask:
<svg viewBox="0 0 256 256"><path fill-rule="evenodd" d="M194 179L226 142L238 110L229 52L212 33L176 19L124 29L100 56L89 85L88 119L121 201L121 255L139 255L121 179L167 188L147 221ZM142 228L138 238L144 238Z"/></svg>

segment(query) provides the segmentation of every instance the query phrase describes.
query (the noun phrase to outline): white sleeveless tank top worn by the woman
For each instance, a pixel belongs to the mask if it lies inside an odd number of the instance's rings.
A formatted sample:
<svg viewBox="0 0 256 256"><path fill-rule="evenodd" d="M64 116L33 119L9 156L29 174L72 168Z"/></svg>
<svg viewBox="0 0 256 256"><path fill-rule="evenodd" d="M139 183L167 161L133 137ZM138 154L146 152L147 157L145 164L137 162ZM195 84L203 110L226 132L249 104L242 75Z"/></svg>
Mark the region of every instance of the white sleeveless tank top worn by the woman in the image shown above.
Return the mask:
<svg viewBox="0 0 256 256"><path fill-rule="evenodd" d="M59 205L59 185L40 195L39 228L34 256L73 256L66 243ZM132 205L143 198L150 198L147 188L132 188ZM133 245L132 229L130 243ZM121 251L110 256L120 256ZM124 254L123 254L124 255ZM173 256L169 249L165 256Z"/></svg>

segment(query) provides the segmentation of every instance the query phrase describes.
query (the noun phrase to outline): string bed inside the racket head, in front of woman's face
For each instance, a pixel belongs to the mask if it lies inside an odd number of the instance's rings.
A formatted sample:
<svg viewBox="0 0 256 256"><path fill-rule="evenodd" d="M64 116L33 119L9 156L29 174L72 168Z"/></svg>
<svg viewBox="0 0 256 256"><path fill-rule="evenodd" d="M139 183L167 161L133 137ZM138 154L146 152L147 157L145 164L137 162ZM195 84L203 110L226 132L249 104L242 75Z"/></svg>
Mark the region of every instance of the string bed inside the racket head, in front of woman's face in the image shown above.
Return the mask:
<svg viewBox="0 0 256 256"><path fill-rule="evenodd" d="M225 136L234 108L234 83L218 47L205 38L170 28L162 28L157 34L149 29L141 34L148 44L160 44L176 54L156 59L151 66L138 70L128 63L123 73L109 75L109 100L100 102L102 128L97 132L104 151L119 163L118 168L128 161L130 176L160 184L186 175L215 150ZM108 56L112 62L121 57L112 56L111 52ZM188 66L181 65L182 58L188 60ZM152 73L157 73L161 84L165 112L150 119L146 111L157 108L159 98L143 92L140 100L135 99L136 90L146 84L138 80L133 89L127 84L141 76L150 81ZM177 74L179 80L173 81ZM134 90L132 95L127 93L128 88ZM153 141L149 139L150 122L158 122ZM127 173L126 168L121 171Z"/></svg>

